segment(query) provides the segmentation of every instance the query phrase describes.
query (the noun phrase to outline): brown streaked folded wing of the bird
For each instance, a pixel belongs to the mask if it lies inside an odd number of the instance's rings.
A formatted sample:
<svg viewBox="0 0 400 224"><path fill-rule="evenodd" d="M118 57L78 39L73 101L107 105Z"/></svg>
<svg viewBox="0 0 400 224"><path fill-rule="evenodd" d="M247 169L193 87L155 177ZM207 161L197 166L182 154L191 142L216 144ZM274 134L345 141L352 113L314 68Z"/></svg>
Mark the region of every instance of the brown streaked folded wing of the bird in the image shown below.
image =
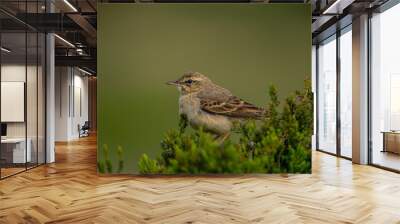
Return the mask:
<svg viewBox="0 0 400 224"><path fill-rule="evenodd" d="M208 113L232 118L261 119L265 115L263 108L247 103L236 96L230 96L226 100L200 98L200 108Z"/></svg>

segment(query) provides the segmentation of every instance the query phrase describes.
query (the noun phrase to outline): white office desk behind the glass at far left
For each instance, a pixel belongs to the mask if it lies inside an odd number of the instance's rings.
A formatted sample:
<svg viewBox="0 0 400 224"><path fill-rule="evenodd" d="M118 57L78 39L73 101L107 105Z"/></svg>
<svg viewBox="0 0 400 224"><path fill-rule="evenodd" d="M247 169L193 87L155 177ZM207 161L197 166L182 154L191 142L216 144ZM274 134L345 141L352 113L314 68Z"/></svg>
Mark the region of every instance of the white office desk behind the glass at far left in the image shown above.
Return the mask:
<svg viewBox="0 0 400 224"><path fill-rule="evenodd" d="M31 162L31 145L30 138L26 140L28 143L25 154L25 138L6 138L1 139L1 157L6 163L25 163Z"/></svg>

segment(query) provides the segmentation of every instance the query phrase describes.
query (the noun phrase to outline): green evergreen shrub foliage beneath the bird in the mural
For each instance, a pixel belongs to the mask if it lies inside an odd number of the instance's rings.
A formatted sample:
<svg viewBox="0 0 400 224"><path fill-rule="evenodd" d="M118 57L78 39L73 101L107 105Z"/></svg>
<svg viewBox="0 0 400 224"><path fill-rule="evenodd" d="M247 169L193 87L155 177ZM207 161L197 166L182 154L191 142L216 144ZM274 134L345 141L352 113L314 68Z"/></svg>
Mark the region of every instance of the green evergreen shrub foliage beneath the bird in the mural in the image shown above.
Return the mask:
<svg viewBox="0 0 400 224"><path fill-rule="evenodd" d="M182 116L179 129L165 134L157 159L141 156L140 173L311 173L310 80L305 81L302 91L296 91L283 103L274 86L269 88L268 95L267 116L262 121L235 125L239 136L236 141L228 139L221 143L202 130L189 131L187 119Z"/></svg>

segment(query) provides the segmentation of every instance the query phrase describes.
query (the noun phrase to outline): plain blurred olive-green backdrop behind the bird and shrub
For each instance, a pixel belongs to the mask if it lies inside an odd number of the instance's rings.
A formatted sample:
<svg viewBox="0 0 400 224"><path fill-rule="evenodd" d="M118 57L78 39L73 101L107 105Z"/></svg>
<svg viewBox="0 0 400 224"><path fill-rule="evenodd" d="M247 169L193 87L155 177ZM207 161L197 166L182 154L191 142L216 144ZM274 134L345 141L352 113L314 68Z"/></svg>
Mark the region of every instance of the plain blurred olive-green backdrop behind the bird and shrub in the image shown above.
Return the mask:
<svg viewBox="0 0 400 224"><path fill-rule="evenodd" d="M311 76L306 4L98 6L98 148L107 144L117 164L121 145L124 173L137 173L141 154L158 155L177 127L178 91L165 82L185 71L258 106L269 85L284 98Z"/></svg>

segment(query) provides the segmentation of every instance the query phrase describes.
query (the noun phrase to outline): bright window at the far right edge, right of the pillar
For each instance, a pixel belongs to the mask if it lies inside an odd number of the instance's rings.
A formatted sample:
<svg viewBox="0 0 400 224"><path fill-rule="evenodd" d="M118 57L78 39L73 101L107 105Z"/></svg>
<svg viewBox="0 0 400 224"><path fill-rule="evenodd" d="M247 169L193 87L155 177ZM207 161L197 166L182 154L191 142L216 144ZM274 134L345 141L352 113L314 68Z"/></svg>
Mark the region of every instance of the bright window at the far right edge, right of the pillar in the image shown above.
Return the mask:
<svg viewBox="0 0 400 224"><path fill-rule="evenodd" d="M371 159L400 170L400 4L371 19Z"/></svg>

